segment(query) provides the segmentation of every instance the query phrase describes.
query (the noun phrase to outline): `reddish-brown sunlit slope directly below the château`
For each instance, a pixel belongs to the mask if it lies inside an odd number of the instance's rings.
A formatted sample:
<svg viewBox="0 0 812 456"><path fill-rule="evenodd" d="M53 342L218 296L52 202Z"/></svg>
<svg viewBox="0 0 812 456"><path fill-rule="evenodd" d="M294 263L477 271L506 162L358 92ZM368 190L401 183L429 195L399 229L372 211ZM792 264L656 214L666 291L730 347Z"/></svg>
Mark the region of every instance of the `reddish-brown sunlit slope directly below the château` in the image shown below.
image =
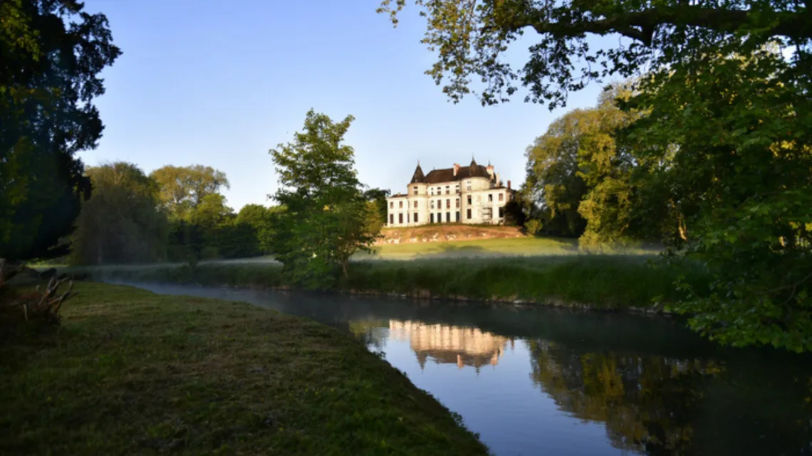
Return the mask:
<svg viewBox="0 0 812 456"><path fill-rule="evenodd" d="M400 243L434 243L473 239L523 238L517 226L478 226L478 225L425 225L402 228L384 228L377 245Z"/></svg>

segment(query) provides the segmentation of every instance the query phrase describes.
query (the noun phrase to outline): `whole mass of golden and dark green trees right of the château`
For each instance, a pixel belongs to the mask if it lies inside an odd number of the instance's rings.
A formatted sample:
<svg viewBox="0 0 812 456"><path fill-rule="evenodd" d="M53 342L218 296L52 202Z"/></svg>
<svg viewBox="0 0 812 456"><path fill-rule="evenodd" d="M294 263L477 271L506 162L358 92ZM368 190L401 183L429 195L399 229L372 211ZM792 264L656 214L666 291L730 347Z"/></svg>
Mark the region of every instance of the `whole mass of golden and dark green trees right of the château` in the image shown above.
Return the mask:
<svg viewBox="0 0 812 456"><path fill-rule="evenodd" d="M661 244L711 277L674 284L693 329L812 350L812 111L790 65L771 46L705 55L565 114L527 149L525 227Z"/></svg>

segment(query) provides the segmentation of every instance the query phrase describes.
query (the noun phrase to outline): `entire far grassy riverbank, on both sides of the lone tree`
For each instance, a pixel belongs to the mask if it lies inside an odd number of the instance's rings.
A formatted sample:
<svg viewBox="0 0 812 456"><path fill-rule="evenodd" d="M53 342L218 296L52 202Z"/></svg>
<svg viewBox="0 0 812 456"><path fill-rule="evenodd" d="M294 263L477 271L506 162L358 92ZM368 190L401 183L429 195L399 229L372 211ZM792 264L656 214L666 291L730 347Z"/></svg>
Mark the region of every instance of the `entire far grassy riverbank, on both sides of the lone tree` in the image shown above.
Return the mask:
<svg viewBox="0 0 812 456"><path fill-rule="evenodd" d="M208 286L285 286L274 264L96 268L102 280L195 283ZM647 308L680 298L674 282L705 277L691 265L663 265L651 256L567 255L513 258L356 261L339 290L420 297L580 303L594 308Z"/></svg>

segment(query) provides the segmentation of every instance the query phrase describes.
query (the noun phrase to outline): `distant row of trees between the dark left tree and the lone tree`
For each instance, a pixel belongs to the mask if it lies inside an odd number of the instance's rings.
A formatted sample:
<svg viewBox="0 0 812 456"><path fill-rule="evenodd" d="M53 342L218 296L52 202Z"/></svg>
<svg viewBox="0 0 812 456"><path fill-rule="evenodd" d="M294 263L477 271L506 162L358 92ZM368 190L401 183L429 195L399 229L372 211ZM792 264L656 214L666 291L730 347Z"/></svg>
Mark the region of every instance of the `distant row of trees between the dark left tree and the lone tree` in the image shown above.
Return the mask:
<svg viewBox="0 0 812 456"><path fill-rule="evenodd" d="M221 191L222 171L163 166L145 174L117 162L85 170L93 188L70 236L71 265L245 258L274 252L274 220L283 211L247 204L235 212Z"/></svg>

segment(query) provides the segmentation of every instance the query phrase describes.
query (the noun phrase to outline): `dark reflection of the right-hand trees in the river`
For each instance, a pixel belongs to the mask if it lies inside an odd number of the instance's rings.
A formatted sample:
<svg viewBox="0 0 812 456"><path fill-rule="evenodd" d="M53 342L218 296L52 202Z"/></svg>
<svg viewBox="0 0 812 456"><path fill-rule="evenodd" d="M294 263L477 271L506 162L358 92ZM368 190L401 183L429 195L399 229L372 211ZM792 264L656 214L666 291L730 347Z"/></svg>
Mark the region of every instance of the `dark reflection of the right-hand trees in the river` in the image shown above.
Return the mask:
<svg viewBox="0 0 812 456"><path fill-rule="evenodd" d="M748 371L711 359L573 351L541 340L529 341L529 348L533 381L560 410L606 424L617 448L652 455L812 454L812 415L803 404L812 385L808 370L793 381L755 372L767 368L762 364Z"/></svg>

